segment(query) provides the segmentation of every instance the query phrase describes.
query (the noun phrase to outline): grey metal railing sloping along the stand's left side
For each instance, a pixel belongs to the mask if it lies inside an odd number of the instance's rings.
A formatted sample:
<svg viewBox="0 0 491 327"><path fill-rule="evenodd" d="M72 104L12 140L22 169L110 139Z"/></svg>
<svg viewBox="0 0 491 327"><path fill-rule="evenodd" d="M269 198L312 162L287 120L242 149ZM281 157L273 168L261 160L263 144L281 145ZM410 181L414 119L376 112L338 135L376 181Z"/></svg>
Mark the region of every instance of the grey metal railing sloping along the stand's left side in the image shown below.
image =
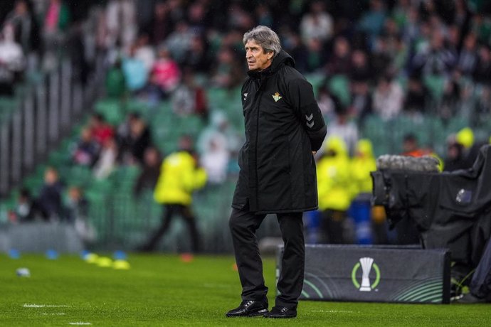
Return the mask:
<svg viewBox="0 0 491 327"><path fill-rule="evenodd" d="M105 53L95 56L85 85L73 70L71 58L60 58L56 68L17 92L19 107L0 121L0 199L19 186L92 108L105 77Z"/></svg>

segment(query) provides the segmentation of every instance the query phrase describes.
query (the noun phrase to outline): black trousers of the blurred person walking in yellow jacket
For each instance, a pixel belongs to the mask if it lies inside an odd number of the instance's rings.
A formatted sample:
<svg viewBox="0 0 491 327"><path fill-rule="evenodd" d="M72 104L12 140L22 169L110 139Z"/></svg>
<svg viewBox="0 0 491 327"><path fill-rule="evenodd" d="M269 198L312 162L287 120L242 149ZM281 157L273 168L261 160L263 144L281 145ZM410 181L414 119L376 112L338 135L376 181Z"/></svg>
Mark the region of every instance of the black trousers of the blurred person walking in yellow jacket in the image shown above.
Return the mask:
<svg viewBox="0 0 491 327"><path fill-rule="evenodd" d="M142 247L142 250L152 251L157 247L159 240L164 236L165 232L169 230L171 225L172 218L175 215L180 215L181 218L187 224L189 235L191 236L191 250L196 253L200 251L199 245L199 232L196 227L196 219L191 211L191 208L187 205L164 205L164 215L162 216L162 225L160 225L159 229L154 232L152 237L149 239L146 245Z"/></svg>

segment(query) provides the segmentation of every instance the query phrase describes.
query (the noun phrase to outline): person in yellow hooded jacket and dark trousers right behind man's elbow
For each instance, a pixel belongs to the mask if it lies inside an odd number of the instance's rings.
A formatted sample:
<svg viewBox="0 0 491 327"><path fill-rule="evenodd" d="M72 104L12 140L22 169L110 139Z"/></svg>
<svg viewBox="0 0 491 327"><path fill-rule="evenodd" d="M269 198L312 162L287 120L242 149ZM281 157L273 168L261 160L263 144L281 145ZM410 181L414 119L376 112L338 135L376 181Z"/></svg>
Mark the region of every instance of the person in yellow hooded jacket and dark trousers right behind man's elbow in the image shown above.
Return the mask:
<svg viewBox="0 0 491 327"><path fill-rule="evenodd" d="M352 172L347 146L338 136L329 136L317 164L319 210L322 213L322 242L346 243L344 220L353 198Z"/></svg>

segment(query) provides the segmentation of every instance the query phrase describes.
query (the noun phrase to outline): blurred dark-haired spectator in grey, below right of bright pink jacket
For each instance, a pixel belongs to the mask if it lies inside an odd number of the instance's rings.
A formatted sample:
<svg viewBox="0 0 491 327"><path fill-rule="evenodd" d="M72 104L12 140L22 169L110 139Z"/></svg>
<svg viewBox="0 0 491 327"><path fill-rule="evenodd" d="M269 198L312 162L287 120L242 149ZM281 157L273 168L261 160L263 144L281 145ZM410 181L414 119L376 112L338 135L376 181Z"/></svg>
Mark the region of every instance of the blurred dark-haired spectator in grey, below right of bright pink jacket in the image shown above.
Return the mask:
<svg viewBox="0 0 491 327"><path fill-rule="evenodd" d="M197 114L206 118L208 116L208 102L203 87L196 85L194 73L186 69L181 84L172 94L172 110L179 116Z"/></svg>

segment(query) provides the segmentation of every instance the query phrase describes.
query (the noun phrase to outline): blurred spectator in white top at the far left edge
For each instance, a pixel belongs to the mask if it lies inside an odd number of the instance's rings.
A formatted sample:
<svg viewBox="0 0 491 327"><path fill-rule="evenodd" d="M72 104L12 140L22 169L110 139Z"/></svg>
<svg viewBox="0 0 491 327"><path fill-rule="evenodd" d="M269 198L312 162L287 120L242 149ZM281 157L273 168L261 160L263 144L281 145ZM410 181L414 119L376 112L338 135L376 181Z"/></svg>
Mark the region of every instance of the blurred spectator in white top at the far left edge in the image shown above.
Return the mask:
<svg viewBox="0 0 491 327"><path fill-rule="evenodd" d="M14 41L11 25L4 26L0 37L0 95L14 95L14 84L21 80L25 58L21 45Z"/></svg>

